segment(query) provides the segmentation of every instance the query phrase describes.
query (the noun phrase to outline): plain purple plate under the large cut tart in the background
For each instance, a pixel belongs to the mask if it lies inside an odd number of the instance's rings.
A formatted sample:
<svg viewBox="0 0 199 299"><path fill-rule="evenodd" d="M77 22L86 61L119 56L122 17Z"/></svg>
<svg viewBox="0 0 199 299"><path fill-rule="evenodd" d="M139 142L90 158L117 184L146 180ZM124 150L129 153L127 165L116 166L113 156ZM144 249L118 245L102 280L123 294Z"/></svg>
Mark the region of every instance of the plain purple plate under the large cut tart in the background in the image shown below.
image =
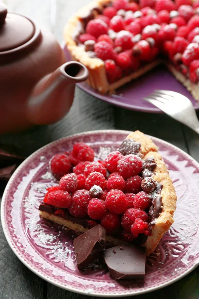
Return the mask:
<svg viewBox="0 0 199 299"><path fill-rule="evenodd" d="M70 61L71 56L69 51L64 45L62 47L66 60ZM85 82L78 83L77 86L88 94L107 103L130 110L151 113L163 112L151 103L144 101L143 98L150 95L155 89L172 90L188 97L192 101L194 108L199 110L199 102L193 98L191 93L176 80L164 65L160 65L140 78L132 80L130 83L118 88L115 94L112 95L102 95Z"/></svg>

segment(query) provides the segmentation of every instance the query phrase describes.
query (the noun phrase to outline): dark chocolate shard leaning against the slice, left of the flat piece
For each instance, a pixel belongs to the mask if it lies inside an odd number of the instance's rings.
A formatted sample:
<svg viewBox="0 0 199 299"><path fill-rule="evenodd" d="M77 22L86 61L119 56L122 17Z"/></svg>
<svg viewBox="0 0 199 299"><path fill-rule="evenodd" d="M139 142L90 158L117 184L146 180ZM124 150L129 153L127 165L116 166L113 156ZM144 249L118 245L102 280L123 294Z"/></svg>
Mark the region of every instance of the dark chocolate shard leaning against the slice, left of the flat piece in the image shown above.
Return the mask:
<svg viewBox="0 0 199 299"><path fill-rule="evenodd" d="M98 224L75 238L73 244L78 269L82 270L91 264L105 248L105 229Z"/></svg>

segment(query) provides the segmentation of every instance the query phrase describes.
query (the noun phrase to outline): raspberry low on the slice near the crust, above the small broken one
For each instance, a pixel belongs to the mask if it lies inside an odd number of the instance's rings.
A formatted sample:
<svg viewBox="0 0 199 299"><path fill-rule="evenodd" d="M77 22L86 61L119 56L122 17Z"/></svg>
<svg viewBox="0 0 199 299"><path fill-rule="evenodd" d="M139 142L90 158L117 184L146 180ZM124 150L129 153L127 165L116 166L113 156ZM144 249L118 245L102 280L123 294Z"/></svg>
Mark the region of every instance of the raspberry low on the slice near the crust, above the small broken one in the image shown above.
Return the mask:
<svg viewBox="0 0 199 299"><path fill-rule="evenodd" d="M135 222L136 218L141 218L144 222L149 221L147 213L140 209L131 208L127 209L123 213L121 218L121 226L127 233L130 233L131 225Z"/></svg>

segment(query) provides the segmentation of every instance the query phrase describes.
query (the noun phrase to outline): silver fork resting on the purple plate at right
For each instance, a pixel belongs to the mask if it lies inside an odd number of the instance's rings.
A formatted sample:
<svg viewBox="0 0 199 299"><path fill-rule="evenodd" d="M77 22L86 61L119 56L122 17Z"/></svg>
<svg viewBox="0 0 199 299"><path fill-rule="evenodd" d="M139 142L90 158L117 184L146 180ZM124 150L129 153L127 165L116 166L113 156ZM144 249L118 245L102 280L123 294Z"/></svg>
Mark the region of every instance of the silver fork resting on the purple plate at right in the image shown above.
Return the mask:
<svg viewBox="0 0 199 299"><path fill-rule="evenodd" d="M199 134L199 120L192 102L187 97L175 91L155 90L144 100Z"/></svg>

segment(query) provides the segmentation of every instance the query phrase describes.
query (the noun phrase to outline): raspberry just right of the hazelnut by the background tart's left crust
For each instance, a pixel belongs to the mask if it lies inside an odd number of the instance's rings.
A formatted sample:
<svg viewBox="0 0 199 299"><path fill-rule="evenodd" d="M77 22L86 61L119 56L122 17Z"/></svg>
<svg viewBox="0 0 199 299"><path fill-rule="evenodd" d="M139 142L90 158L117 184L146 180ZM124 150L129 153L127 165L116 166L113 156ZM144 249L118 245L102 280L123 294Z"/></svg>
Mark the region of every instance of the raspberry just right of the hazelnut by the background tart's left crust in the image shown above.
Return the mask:
<svg viewBox="0 0 199 299"><path fill-rule="evenodd" d="M113 47L109 42L100 41L95 44L94 50L98 56L98 58L102 60L112 59L114 60L115 54L113 51Z"/></svg>

